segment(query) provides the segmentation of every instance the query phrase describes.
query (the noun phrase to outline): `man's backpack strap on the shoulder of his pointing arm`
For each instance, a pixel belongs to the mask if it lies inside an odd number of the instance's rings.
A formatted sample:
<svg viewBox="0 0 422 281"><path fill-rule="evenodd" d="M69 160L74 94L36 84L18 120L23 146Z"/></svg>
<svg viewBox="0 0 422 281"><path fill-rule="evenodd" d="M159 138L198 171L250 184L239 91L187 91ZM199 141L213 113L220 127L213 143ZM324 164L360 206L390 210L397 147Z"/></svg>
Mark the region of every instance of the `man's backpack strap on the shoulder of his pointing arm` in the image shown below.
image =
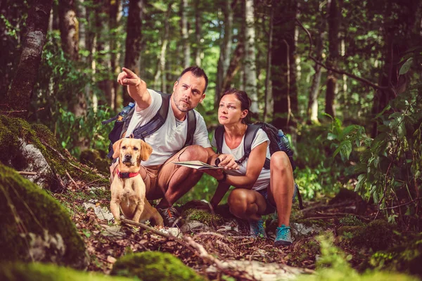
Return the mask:
<svg viewBox="0 0 422 281"><path fill-rule="evenodd" d="M140 126L134 129L134 138L141 138L143 140L147 136L151 135L151 133L155 133L158 129L161 128L162 124L165 123L165 119L167 119L167 115L169 113L169 106L170 106L170 94L168 93L161 93L162 103L161 107L158 112L154 115L154 117L148 122L147 124Z"/></svg>

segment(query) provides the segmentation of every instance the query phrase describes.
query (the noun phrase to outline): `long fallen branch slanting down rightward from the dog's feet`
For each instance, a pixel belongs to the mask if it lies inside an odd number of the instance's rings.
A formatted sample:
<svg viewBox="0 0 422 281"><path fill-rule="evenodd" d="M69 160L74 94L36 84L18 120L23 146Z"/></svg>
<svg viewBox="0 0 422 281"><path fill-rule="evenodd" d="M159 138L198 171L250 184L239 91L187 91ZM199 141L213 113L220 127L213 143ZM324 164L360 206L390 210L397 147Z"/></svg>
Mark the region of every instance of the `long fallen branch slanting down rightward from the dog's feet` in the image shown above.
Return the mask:
<svg viewBox="0 0 422 281"><path fill-rule="evenodd" d="M215 258L214 256L208 254L208 252L205 250L203 245L195 242L191 237L189 236L183 236L183 240L175 237L174 235L170 233L162 233L160 230L156 230L155 228L151 228L143 223L136 223L135 221L128 220L126 218L120 219L123 223L131 224L133 226L139 226L140 228L146 229L151 231L152 233L156 235L160 235L162 237L166 237L167 239L174 240L175 242L178 242L179 244L185 246L189 250L193 252L193 254L198 254L198 256L203 259L206 263L209 263L211 265L214 265L219 270L221 270L224 274L241 278L242 280L254 280L252 277L245 278L244 275L241 275L243 272L239 272L229 264L224 264L219 259ZM244 273L245 274L245 273Z"/></svg>

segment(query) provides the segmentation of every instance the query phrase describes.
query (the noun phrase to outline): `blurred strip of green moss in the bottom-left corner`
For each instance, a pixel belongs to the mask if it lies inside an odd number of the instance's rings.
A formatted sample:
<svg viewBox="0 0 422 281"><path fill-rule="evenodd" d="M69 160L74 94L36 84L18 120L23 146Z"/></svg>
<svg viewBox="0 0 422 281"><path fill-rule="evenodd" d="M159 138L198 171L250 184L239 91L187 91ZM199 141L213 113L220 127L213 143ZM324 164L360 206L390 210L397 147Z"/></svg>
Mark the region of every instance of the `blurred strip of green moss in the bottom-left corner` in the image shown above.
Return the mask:
<svg viewBox="0 0 422 281"><path fill-rule="evenodd" d="M126 277L111 277L99 273L86 273L42 263L2 263L0 280L7 281L125 281Z"/></svg>

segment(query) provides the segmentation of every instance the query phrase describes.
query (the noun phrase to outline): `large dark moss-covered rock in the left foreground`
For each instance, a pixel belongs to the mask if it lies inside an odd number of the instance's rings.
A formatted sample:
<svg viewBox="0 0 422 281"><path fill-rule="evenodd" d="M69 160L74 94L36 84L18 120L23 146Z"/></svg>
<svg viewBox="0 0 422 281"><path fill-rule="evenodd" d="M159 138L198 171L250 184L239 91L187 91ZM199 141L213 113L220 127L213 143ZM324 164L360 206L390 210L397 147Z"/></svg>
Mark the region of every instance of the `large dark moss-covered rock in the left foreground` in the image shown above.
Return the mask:
<svg viewBox="0 0 422 281"><path fill-rule="evenodd" d="M89 262L67 211L46 191L0 164L0 261Z"/></svg>

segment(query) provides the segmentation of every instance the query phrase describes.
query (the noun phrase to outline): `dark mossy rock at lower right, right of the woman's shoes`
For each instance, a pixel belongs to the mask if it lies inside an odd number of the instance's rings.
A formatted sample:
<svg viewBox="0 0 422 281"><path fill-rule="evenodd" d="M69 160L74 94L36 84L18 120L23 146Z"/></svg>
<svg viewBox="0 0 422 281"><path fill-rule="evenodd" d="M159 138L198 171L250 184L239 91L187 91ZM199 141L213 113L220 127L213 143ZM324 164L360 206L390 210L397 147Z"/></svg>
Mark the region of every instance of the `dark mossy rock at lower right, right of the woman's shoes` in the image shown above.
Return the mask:
<svg viewBox="0 0 422 281"><path fill-rule="evenodd" d="M338 233L342 235L343 244L379 251L395 244L395 229L396 226L387 221L376 220L364 226L343 226Z"/></svg>

